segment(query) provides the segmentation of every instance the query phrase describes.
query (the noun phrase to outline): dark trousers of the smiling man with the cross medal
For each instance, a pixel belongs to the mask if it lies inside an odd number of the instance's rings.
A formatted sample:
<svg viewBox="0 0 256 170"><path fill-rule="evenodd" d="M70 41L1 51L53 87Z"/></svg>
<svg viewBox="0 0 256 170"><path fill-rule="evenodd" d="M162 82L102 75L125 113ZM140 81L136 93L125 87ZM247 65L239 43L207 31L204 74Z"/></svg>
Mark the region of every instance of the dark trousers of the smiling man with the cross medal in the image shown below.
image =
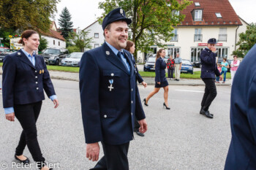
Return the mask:
<svg viewBox="0 0 256 170"><path fill-rule="evenodd" d="M129 142L125 144L105 144L102 142L104 156L90 170L129 170L128 149Z"/></svg>

